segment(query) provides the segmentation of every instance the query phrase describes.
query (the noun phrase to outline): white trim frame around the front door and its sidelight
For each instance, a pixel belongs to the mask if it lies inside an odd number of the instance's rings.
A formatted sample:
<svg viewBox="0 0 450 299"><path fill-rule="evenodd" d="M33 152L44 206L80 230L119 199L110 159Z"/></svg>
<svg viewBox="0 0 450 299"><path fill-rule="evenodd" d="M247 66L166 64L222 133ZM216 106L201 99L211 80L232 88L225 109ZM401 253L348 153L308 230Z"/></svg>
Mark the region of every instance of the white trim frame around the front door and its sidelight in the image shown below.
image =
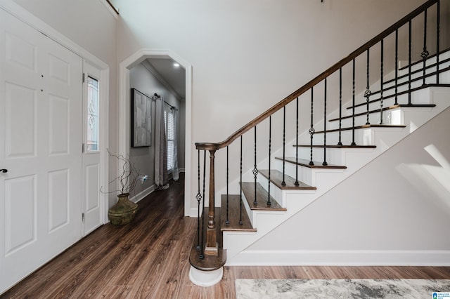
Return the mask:
<svg viewBox="0 0 450 299"><path fill-rule="evenodd" d="M86 62L94 67L100 69L100 79L98 81L100 85L100 100L103 102L103 107L101 107L101 118L100 126L100 140L101 140L101 175L100 175L100 184L103 186L104 193L101 193L101 219L103 224L107 223L108 220L108 208L109 208L109 184L108 184L108 173L109 173L109 159L108 159L108 144L109 144L109 91L110 91L110 67L108 64L103 62L102 60L96 58L95 55L89 53L84 48L75 44L75 42L68 39L68 37L64 36L60 32L53 29L53 27L47 25L45 22L37 18L35 15L25 10L22 6L16 4L13 0L0 0L0 8L4 9L11 15L18 18L22 22L25 22L27 25L30 25L32 28L36 29L38 32L41 32L48 36L53 41L56 41L61 46L68 48L68 50L82 57ZM82 74L80 74L82 76ZM80 117L83 117L80 115ZM82 145L80 146L80 150ZM81 215L80 215L81 217Z"/></svg>

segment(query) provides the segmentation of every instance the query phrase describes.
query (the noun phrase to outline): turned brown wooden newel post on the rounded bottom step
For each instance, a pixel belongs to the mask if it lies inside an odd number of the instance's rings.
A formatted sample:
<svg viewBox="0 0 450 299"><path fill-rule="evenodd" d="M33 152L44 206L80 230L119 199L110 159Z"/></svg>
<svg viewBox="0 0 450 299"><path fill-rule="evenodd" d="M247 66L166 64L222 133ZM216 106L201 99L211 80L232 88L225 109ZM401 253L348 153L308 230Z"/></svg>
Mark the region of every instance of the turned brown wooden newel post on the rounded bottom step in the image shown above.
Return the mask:
<svg viewBox="0 0 450 299"><path fill-rule="evenodd" d="M214 201L214 153L210 150L210 200L208 210L208 228L206 233L205 255L219 255L219 245L217 244L216 222L215 222L215 201Z"/></svg>

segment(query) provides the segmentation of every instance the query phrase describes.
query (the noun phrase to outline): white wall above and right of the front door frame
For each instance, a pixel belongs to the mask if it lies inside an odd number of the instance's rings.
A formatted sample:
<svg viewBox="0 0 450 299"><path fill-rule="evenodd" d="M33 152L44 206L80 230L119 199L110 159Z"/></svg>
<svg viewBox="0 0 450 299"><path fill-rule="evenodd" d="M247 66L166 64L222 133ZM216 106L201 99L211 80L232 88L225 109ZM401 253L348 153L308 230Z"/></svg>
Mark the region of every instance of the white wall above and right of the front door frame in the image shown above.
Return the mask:
<svg viewBox="0 0 450 299"><path fill-rule="evenodd" d="M103 0L14 0L60 34L84 48L109 66L109 145L117 153L117 16L108 11ZM109 176L117 175L117 161L110 159ZM108 180L110 181L110 180ZM110 194L110 205L117 198Z"/></svg>

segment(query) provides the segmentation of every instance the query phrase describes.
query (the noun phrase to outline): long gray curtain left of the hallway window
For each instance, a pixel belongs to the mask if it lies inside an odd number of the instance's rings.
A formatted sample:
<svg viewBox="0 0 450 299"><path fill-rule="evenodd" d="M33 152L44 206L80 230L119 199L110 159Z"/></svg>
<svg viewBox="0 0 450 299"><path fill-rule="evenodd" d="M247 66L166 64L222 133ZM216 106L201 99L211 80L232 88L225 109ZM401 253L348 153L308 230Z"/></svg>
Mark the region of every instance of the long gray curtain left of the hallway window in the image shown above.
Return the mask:
<svg viewBox="0 0 450 299"><path fill-rule="evenodd" d="M169 187L167 174L167 138L164 121L164 100L160 98L155 103L155 185L156 190Z"/></svg>

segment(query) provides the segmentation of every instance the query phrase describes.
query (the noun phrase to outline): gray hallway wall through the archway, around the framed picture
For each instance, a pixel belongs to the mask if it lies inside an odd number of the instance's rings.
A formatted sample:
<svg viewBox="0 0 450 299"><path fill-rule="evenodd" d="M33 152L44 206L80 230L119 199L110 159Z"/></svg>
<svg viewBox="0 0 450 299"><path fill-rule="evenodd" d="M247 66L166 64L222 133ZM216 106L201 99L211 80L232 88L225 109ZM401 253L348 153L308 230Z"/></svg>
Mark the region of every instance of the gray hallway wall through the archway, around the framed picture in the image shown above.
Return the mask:
<svg viewBox="0 0 450 299"><path fill-rule="evenodd" d="M175 98L175 96L170 93L167 88L158 81L158 79L149 72L149 70L144 67L142 64L136 65L130 69L129 72L130 77L130 88L136 88L141 93L144 93L148 96L152 96L155 93L158 93L169 105L172 105L178 109L179 119L181 118L181 113L184 111L181 109L181 103L179 100ZM152 105L152 145L150 147L130 147L130 158L131 162L134 163L136 168L139 169L139 173L141 175L148 175L149 179L147 182L143 184L139 183L136 187L134 193L139 193L151 186L155 180L155 102ZM184 121L184 117L179 121L179 125L184 127L182 123ZM179 138L184 140L184 130L179 130ZM183 148L179 147L179 157L184 157ZM180 160L180 159L179 159ZM179 167L184 167L184 159L183 161L179 161Z"/></svg>

